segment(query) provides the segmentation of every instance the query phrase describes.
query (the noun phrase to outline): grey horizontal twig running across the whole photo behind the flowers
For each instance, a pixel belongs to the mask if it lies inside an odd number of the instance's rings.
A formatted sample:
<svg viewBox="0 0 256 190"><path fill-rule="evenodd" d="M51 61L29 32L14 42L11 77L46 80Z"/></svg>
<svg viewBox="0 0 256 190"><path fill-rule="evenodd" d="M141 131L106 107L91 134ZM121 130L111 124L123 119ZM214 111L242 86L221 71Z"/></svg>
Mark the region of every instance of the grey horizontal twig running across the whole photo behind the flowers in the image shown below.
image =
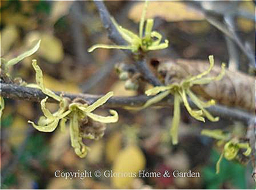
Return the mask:
<svg viewBox="0 0 256 190"><path fill-rule="evenodd" d="M10 98L10 99L19 99L19 100L27 100L32 102L40 102L43 98L46 97L43 92L37 88L30 88L24 86L18 86L17 84L6 84L1 83L0 93L3 98ZM70 98L71 100L75 98L82 98L86 100L89 104L95 102L101 95L91 95L91 94L68 94L66 92L55 92L55 94ZM152 96L146 95L139 95L139 96L113 96L109 100L107 100L106 104L103 104L103 107L118 107L122 108L123 106L130 106L130 107L138 107L142 106L152 98ZM49 98L49 102L55 102L54 99ZM195 107L191 101L189 101L191 107ZM167 97L163 99L161 102L154 104L154 106L173 106L173 99L171 97ZM238 110L236 108L230 108L221 105L215 105L207 108L212 114L219 116L220 118L230 119L230 120L241 120L246 124L249 123L251 120L255 119L255 115Z"/></svg>

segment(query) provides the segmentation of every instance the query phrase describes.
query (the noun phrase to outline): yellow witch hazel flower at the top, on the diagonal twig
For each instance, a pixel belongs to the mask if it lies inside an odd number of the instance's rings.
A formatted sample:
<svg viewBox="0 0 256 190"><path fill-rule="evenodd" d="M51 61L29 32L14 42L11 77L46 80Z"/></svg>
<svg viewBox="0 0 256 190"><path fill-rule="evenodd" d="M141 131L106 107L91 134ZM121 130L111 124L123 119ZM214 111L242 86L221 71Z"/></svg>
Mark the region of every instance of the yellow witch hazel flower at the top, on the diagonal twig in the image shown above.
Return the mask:
<svg viewBox="0 0 256 190"><path fill-rule="evenodd" d="M157 31L152 31L154 20L147 19L145 34L143 36L143 26L145 24L145 15L147 9L147 1L145 2L145 7L142 11L141 21L139 23L139 35L134 34L132 31L123 28L118 25L114 18L111 18L111 21L114 23L116 29L119 34L125 39L128 43L127 46L117 46L117 45L94 45L88 49L89 52L92 52L96 48L118 48L131 50L132 52L138 52L138 50L142 51L150 51L150 50L162 50L169 45L169 41L165 39L164 43L161 43L162 35Z"/></svg>

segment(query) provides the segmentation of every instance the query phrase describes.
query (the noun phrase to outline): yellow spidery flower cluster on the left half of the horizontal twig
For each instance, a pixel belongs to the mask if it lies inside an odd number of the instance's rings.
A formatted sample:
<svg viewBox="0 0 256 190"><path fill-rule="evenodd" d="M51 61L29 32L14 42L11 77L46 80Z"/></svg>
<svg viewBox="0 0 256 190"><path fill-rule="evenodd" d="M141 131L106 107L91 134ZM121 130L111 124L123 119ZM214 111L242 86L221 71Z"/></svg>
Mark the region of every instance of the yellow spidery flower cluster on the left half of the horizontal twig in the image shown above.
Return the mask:
<svg viewBox="0 0 256 190"><path fill-rule="evenodd" d="M87 120L87 117L101 123L117 122L118 113L115 110L110 110L111 116L101 116L92 113L92 111L94 111L96 108L106 103L107 100L114 95L114 92L107 93L105 96L102 96L91 105L88 105L87 103L83 104L80 102L71 102L70 99L58 96L54 94L53 91L47 89L43 84L43 74L41 68L37 65L37 60L32 60L32 65L36 72L35 78L37 80L37 84L28 86L41 89L42 92L47 96L45 99L41 100L41 109L44 116L41 116L38 121L38 125L31 121L29 121L29 123L31 123L33 127L38 131L52 132L55 130L59 123L62 129L66 128L66 121L70 120L69 130L71 145L79 157L85 157L88 147L82 142L82 134L79 131L79 122L81 122L81 120ZM48 99L48 96L59 102L59 110L54 114L51 114L51 112L46 108L45 103Z"/></svg>

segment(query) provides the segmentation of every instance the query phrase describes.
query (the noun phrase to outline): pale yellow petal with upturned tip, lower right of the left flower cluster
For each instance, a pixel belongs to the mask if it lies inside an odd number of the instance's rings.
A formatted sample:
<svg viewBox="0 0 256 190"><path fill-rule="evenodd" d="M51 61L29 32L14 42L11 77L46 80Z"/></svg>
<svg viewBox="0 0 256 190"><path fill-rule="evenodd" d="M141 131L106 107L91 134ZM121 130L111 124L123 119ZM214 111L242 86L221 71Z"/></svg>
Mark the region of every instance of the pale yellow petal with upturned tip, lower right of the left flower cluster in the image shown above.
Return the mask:
<svg viewBox="0 0 256 190"><path fill-rule="evenodd" d="M118 113L115 110L109 110L111 116L101 116L97 114L93 114L91 112L88 112L86 115L95 120L96 122L101 122L101 123L115 123L118 121Z"/></svg>

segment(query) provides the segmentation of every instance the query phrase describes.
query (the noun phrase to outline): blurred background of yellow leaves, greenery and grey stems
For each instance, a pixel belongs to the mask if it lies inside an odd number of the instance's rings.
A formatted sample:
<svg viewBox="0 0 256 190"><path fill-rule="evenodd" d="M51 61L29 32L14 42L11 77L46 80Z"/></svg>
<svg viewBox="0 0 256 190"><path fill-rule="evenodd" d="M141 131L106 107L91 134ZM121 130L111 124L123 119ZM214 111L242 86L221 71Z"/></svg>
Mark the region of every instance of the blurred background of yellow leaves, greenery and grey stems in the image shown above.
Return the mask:
<svg viewBox="0 0 256 190"><path fill-rule="evenodd" d="M138 34L143 2L105 1L119 25ZM133 96L119 80L115 64L129 63L122 50L87 48L113 44L103 28L93 1L1 1L1 57L9 60L41 39L39 50L14 66L13 78L35 82L31 60L43 70L45 86L71 93ZM150 1L147 18L154 30L169 40L165 50L148 58L206 60L214 55L234 70L255 76L255 1ZM70 144L69 131L36 131L27 120L42 114L39 103L5 99L1 118L1 188L3 189L251 189L251 164L222 160L222 149L200 135L202 128L225 128L246 134L236 120L201 123L182 111L179 144L170 142L170 108L139 112L117 109L119 122L107 125L105 135L88 141L91 151L80 159ZM51 111L57 104L47 104ZM65 179L60 171L134 168L149 171L197 171L201 177Z"/></svg>

